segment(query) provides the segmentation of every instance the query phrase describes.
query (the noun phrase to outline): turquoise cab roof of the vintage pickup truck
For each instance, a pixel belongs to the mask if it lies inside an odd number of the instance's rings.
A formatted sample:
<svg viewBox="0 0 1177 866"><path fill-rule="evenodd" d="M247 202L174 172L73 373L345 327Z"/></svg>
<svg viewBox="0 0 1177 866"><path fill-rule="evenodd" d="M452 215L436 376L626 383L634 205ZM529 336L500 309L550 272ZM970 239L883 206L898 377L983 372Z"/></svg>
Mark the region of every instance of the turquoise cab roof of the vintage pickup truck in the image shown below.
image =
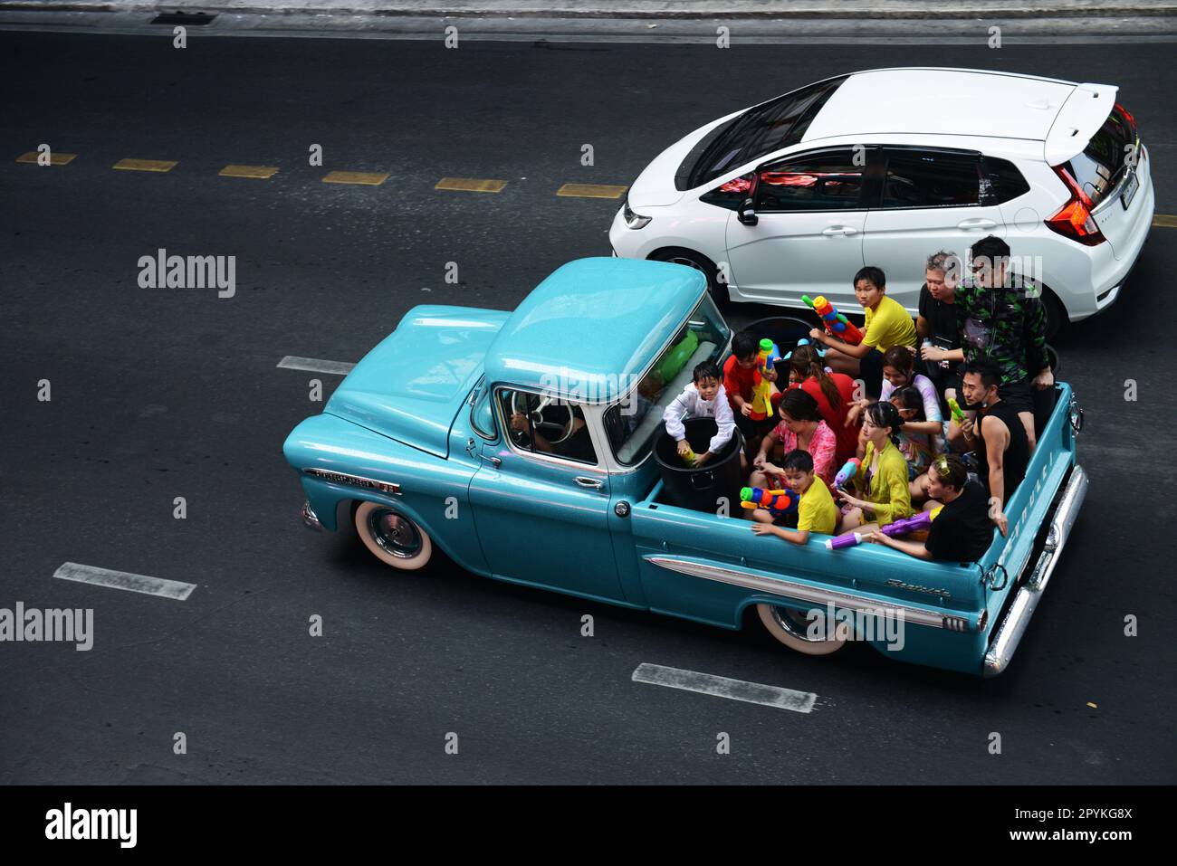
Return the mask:
<svg viewBox="0 0 1177 866"><path fill-rule="evenodd" d="M504 322L486 352L486 379L612 402L654 362L706 285L699 271L663 261L570 261Z"/></svg>

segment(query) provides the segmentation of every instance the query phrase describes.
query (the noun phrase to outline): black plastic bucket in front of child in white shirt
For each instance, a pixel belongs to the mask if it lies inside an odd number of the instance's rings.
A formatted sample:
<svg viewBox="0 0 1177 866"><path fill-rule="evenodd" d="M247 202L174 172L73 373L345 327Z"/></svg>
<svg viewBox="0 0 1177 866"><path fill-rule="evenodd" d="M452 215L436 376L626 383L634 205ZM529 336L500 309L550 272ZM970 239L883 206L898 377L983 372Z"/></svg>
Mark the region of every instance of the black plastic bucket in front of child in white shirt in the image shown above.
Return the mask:
<svg viewBox="0 0 1177 866"><path fill-rule="evenodd" d="M718 429L711 418L692 418L683 426L686 441L696 454L707 449ZM727 497L727 511L731 513L739 504L739 488L744 486L739 466L743 449L744 439L736 429L718 454L701 468L692 468L678 455L678 442L663 432L654 445L654 460L663 475L663 500L680 508L714 513L719 508L719 498Z"/></svg>

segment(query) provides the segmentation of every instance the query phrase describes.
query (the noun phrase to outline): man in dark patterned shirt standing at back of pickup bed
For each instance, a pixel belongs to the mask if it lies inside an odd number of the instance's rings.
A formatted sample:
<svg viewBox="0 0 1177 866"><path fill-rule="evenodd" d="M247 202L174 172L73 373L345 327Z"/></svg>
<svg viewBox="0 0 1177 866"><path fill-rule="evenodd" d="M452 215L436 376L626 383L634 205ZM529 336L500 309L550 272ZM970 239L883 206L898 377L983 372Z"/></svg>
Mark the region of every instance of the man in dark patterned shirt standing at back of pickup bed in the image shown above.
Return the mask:
<svg viewBox="0 0 1177 866"><path fill-rule="evenodd" d="M972 246L973 279L957 288L955 306L965 361L989 355L1000 366L997 393L1017 409L1032 452L1031 387L1052 387L1055 374L1046 355L1046 311L1039 289L1011 273L1009 261L1010 246L1004 240L993 235L978 240Z"/></svg>

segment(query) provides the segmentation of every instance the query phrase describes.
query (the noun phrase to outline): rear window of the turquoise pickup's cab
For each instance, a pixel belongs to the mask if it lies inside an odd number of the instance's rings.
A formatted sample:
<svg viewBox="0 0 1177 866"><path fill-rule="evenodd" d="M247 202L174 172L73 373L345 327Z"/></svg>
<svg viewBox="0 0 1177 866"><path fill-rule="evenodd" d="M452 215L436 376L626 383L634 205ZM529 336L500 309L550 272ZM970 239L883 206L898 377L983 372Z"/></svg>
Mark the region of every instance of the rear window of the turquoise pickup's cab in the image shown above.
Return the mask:
<svg viewBox="0 0 1177 866"><path fill-rule="evenodd" d="M605 432L619 464L645 460L663 431L666 407L693 381L697 365L719 364L730 337L714 302L705 295L637 387L605 412Z"/></svg>

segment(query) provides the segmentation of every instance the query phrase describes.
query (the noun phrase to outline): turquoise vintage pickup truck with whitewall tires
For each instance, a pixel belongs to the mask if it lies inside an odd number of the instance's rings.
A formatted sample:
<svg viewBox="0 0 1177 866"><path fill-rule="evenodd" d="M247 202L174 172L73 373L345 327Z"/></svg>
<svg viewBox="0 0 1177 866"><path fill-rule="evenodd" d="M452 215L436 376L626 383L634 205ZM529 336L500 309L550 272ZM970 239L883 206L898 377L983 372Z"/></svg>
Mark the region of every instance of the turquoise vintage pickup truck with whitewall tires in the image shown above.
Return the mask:
<svg viewBox="0 0 1177 866"><path fill-rule="evenodd" d="M812 655L858 639L918 665L1005 670L1086 492L1071 388L1055 386L1009 537L995 531L979 561L796 546L752 533L740 508L670 501L652 453L664 407L730 338L704 275L656 261L572 261L513 313L414 307L286 439L302 520L354 526L393 568L437 547L499 580L724 628L758 620ZM814 609L855 625L814 634ZM902 640L864 628L883 618Z"/></svg>

